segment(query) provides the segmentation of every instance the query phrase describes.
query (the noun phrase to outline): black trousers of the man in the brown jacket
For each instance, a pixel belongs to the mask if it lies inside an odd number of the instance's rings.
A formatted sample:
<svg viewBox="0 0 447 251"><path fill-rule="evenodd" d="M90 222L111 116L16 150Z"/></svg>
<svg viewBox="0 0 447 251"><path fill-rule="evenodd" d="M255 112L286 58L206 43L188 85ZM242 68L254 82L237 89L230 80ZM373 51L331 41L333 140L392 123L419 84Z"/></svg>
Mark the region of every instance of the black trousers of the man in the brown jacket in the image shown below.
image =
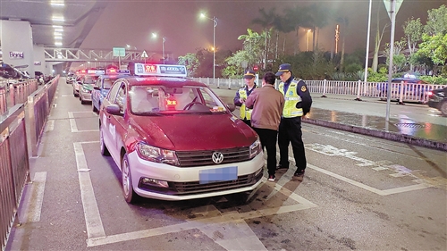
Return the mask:
<svg viewBox="0 0 447 251"><path fill-rule="evenodd" d="M274 175L276 172L276 138L277 130L254 128L261 140L262 148L267 151L267 170L268 175Z"/></svg>

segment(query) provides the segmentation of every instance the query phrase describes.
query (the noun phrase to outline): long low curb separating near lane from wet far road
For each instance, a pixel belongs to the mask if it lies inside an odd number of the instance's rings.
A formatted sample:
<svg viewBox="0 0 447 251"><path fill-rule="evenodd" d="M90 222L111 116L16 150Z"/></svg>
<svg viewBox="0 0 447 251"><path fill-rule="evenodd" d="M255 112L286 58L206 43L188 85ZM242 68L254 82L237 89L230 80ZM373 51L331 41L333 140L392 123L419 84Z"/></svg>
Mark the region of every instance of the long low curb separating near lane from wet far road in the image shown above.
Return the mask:
<svg viewBox="0 0 447 251"><path fill-rule="evenodd" d="M397 142L407 143L414 146L424 146L427 148L433 148L436 150L441 150L447 152L447 143L438 142L426 138L418 138L410 135L405 135L401 133L391 132L391 131L383 131L383 130L374 130L368 129L364 127L358 127L353 125L347 125L342 123L336 123L333 121L324 121L324 120L314 120L308 118L302 118L303 122L315 124L319 126L324 126L336 130L346 130L358 134L363 134L367 136L373 136L375 138L386 138Z"/></svg>

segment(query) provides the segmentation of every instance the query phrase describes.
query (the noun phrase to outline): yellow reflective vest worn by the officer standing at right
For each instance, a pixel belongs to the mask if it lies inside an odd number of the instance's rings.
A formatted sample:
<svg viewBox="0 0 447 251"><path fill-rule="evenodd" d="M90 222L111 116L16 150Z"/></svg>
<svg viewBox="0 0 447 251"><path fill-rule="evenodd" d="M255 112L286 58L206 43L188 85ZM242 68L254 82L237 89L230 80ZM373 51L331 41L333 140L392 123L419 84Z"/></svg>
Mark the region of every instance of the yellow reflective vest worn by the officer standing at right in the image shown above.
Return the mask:
<svg viewBox="0 0 447 251"><path fill-rule="evenodd" d="M298 81L293 79L291 80L291 85L287 89L287 93L284 94L284 83L281 82L278 86L278 90L284 96L284 109L283 109L283 118L294 118L301 117L303 115L303 109L297 108L297 103L301 102L301 97L297 93L297 85Z"/></svg>

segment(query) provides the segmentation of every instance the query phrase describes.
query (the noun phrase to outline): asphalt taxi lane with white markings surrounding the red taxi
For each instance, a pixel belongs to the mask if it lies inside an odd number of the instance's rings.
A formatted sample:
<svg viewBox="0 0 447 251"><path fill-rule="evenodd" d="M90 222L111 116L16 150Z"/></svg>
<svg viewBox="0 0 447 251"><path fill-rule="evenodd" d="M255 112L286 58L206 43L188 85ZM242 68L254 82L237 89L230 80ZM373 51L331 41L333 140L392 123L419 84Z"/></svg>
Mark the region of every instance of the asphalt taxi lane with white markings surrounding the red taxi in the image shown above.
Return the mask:
<svg viewBox="0 0 447 251"><path fill-rule="evenodd" d="M61 79L6 250L447 249L444 152L303 124L302 179L128 205L97 125Z"/></svg>

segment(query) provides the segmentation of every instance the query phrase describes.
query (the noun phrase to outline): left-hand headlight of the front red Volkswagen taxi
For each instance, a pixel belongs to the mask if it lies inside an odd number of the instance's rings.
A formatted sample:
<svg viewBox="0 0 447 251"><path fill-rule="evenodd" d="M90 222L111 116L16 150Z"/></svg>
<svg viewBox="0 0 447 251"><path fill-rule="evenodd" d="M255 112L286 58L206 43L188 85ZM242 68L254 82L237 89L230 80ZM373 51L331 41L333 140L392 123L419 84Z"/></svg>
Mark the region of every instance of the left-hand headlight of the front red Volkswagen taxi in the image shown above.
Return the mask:
<svg viewBox="0 0 447 251"><path fill-rule="evenodd" d="M177 155L171 150L165 150L139 142L137 145L137 153L141 158L151 162L179 165Z"/></svg>

